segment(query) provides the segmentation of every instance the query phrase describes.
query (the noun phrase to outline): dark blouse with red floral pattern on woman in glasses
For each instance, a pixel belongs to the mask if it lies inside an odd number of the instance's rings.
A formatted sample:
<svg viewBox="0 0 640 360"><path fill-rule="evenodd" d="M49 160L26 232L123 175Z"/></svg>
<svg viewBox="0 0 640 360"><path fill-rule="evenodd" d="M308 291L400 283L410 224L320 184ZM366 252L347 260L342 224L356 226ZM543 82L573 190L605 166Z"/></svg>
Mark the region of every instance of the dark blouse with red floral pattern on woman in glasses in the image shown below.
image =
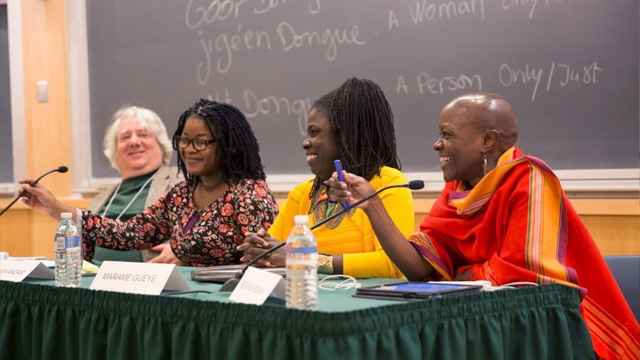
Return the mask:
<svg viewBox="0 0 640 360"><path fill-rule="evenodd" d="M174 185L153 205L126 222L83 213L84 257L95 246L118 250L148 249L171 240L171 249L187 266L238 264L236 246L244 234L268 229L278 214L275 197L264 180L232 184L208 206L193 204L194 185Z"/></svg>

